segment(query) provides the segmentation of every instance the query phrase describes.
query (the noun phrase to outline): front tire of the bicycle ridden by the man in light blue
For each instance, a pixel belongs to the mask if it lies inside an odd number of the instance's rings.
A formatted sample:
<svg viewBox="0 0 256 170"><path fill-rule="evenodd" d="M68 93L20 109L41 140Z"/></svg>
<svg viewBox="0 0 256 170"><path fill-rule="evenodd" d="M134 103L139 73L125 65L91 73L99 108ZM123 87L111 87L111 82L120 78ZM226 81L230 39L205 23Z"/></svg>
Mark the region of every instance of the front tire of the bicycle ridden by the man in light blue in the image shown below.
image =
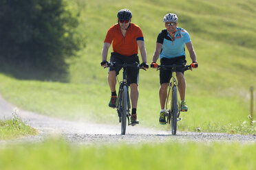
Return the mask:
<svg viewBox="0 0 256 170"><path fill-rule="evenodd" d="M177 114L178 114L177 87L173 86L173 93L171 97L171 134L173 135L175 135L177 131Z"/></svg>

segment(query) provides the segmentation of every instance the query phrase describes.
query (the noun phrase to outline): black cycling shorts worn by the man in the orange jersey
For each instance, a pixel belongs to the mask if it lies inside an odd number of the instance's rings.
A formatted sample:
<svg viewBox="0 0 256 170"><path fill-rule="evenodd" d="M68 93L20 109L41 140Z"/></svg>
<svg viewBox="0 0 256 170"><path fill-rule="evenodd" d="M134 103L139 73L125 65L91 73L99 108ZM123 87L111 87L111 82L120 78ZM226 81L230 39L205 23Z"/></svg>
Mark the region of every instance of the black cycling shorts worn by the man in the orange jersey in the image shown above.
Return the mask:
<svg viewBox="0 0 256 170"><path fill-rule="evenodd" d="M140 64L140 60L138 59L138 54L134 54L132 56L122 56L119 53L111 53L110 62L116 62L116 64L133 64L134 62L138 62ZM116 75L119 74L121 67L118 66L109 66L109 71L116 71ZM138 84L139 79L139 69L134 66L127 66L127 84Z"/></svg>

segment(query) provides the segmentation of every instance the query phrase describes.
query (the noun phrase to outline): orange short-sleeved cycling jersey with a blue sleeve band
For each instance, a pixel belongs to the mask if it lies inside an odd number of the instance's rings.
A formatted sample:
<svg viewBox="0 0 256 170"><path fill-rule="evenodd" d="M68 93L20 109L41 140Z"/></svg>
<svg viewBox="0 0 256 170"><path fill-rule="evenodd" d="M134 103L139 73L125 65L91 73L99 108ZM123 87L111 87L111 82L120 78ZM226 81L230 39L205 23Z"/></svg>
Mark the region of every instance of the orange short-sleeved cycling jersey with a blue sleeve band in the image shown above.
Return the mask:
<svg viewBox="0 0 256 170"><path fill-rule="evenodd" d="M115 53L123 56L131 56L138 54L137 40L144 40L140 27L134 23L130 23L125 36L122 36L120 25L116 23L111 26L107 32L104 42L111 44Z"/></svg>

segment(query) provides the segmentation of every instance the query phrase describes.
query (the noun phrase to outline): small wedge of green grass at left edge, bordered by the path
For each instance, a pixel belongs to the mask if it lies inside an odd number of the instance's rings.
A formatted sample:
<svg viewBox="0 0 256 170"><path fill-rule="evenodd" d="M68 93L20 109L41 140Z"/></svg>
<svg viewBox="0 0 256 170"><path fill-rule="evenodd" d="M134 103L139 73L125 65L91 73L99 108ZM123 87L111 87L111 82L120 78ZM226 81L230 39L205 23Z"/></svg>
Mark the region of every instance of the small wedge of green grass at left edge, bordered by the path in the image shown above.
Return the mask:
<svg viewBox="0 0 256 170"><path fill-rule="evenodd" d="M0 120L0 141L35 134L37 134L37 131L33 127L26 125L16 112L12 114L12 119Z"/></svg>

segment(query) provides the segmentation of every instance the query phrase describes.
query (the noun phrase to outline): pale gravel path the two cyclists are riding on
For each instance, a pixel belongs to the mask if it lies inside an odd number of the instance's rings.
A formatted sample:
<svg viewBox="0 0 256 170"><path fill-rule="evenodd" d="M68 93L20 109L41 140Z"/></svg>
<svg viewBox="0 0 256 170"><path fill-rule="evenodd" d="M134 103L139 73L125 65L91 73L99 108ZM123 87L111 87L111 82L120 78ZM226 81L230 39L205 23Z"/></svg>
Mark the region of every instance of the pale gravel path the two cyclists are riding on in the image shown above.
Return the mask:
<svg viewBox="0 0 256 170"><path fill-rule="evenodd" d="M8 104L0 97L0 119L12 117L16 107ZM127 126L127 134L120 135L120 124L105 125L84 123L75 121L65 121L52 117L43 116L34 112L18 110L19 116L28 125L36 128L39 135L27 136L14 141L0 141L0 143L37 143L44 141L50 136L62 136L70 143L79 144L113 144L113 143L162 143L165 141L188 142L196 141L199 143L212 142L239 142L256 143L255 135L220 134L220 133L196 133L196 132L177 132L172 136L169 131L153 130L151 128L140 127L140 125Z"/></svg>

